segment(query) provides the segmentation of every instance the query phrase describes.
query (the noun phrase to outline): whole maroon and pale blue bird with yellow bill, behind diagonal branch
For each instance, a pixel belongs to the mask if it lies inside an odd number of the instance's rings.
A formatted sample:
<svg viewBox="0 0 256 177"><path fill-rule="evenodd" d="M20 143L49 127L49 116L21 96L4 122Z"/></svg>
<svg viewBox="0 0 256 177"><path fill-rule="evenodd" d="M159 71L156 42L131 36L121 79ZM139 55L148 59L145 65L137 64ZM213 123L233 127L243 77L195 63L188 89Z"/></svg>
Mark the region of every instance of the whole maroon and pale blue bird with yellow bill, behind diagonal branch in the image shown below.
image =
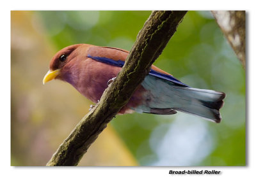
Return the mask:
<svg viewBox="0 0 256 177"><path fill-rule="evenodd" d="M109 46L70 45L51 59L43 83L57 79L70 83L84 97L98 103L104 90L124 66L129 51ZM118 114L173 115L177 111L220 123L226 94L189 87L152 65L145 79ZM90 106L92 108L92 106Z"/></svg>

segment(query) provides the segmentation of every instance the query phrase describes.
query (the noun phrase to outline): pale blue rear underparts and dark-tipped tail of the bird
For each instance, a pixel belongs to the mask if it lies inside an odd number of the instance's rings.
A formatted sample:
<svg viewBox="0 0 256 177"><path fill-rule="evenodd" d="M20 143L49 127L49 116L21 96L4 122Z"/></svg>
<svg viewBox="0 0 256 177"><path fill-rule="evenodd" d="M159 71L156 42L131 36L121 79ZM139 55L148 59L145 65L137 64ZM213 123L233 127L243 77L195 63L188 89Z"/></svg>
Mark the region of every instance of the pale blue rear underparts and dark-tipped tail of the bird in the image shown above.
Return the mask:
<svg viewBox="0 0 256 177"><path fill-rule="evenodd" d="M223 92L180 86L154 76L147 76L142 86L148 90L150 101L135 111L172 115L177 110L198 115L212 122L221 121L220 108L225 98Z"/></svg>

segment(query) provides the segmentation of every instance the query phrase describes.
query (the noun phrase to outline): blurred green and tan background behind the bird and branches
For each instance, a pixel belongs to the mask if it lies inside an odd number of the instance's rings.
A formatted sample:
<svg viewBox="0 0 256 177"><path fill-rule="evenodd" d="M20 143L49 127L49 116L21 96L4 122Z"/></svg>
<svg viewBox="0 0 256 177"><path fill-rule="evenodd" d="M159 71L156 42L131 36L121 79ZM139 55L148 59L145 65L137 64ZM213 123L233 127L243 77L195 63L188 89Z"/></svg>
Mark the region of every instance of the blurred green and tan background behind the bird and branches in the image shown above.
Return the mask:
<svg viewBox="0 0 256 177"><path fill-rule="evenodd" d="M77 43L131 50L150 11L11 11L11 165L45 166L92 104L68 83L42 84L52 56ZM245 166L245 71L209 11L189 11L154 63L191 87L225 92L220 124L118 115L79 166Z"/></svg>

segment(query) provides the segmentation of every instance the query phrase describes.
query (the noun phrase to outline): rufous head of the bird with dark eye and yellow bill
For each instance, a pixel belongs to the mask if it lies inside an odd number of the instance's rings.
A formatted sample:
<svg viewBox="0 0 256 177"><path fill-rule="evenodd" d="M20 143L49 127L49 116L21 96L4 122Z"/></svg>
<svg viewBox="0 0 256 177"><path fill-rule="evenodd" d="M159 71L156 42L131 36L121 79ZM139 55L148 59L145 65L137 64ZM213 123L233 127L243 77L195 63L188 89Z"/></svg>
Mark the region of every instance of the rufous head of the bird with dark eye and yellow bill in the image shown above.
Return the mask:
<svg viewBox="0 0 256 177"><path fill-rule="evenodd" d="M51 81L55 78L61 79L63 68L71 64L72 61L76 59L77 55L81 53L79 48L82 45L83 44L70 45L57 52L54 57L52 57L49 71L45 74L43 83L45 84L47 81Z"/></svg>

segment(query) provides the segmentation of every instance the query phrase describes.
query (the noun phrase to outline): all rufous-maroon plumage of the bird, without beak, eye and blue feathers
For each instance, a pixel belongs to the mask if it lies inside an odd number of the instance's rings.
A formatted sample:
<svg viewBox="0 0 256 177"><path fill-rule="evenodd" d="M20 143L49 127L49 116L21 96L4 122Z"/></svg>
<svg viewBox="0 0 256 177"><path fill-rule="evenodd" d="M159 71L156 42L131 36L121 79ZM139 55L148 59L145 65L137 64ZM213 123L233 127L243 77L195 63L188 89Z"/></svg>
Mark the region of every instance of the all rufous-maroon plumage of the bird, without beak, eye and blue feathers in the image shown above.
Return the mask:
<svg viewBox="0 0 256 177"><path fill-rule="evenodd" d="M61 69L56 79L67 81L75 87L83 96L93 103L100 100L107 83L115 78L122 67L111 66L90 59L88 55L107 57L114 60L125 60L129 52L119 48L100 47L93 45L72 45L60 50L51 60L50 70ZM67 60L60 61L61 55L67 55ZM131 107L136 107L143 101L141 94L145 92L143 87L138 87L129 103L119 113L132 113Z"/></svg>

